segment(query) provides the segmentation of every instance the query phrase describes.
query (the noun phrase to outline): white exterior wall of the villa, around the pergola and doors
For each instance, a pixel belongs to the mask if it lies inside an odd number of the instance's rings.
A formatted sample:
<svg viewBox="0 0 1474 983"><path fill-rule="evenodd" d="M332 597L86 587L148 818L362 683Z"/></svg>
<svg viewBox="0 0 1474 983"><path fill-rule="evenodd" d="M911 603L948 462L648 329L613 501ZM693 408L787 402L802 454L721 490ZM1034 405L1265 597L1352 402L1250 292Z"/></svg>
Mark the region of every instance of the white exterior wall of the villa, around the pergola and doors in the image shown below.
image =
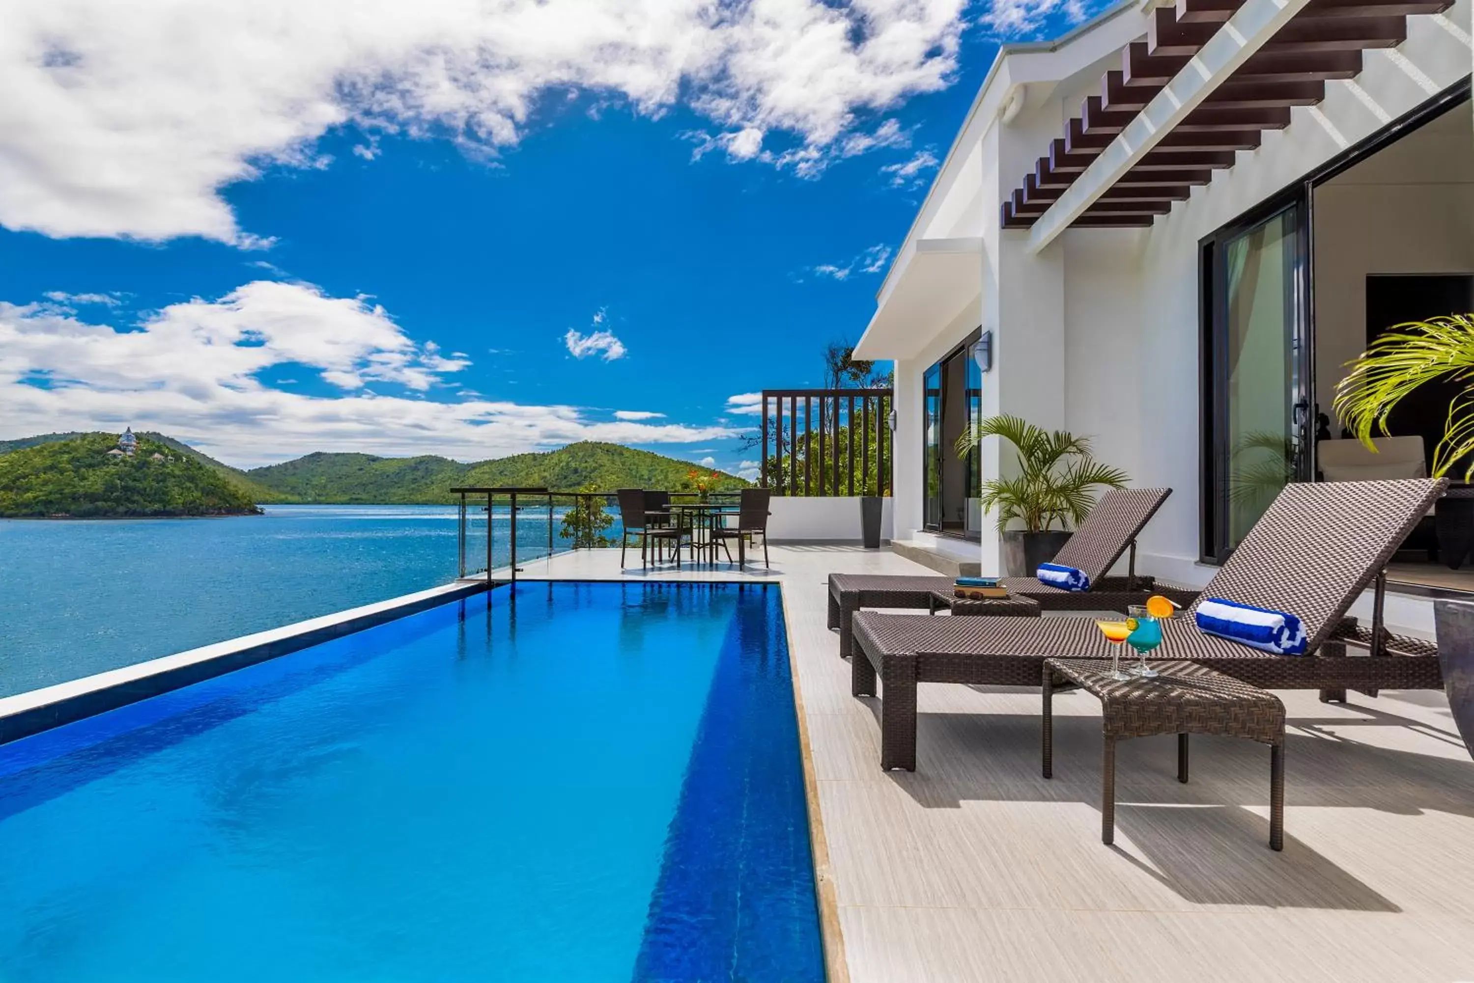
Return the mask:
<svg viewBox="0 0 1474 983"><path fill-rule="evenodd" d="M1409 18L1406 43L1368 50L1355 81L1330 83L1319 106L1294 109L1288 130L1265 133L1259 150L1240 153L1234 168L1218 171L1153 227L1069 230L1038 255L1027 253L1026 231L999 228L998 202L1048 150L1080 99L1098 88L1101 72L1119 60L1119 53L1095 49L1111 32L1129 34L1138 15L1125 12L1058 50L1008 53L989 84L995 91L980 96L912 230L912 237L979 234L983 287L976 309L948 324L917 324L929 340L896 364L896 536L911 538L921 526L921 373L980 324L993 332L995 352L995 367L983 377L985 413L1017 413L1092 435L1098 457L1123 467L1134 483L1170 486L1172 498L1142 536L1139 564L1159 576L1206 584L1213 567L1197 562L1198 243L1468 75L1470 9L1471 0L1459 0L1445 15ZM1070 46L1094 46L1095 60L1085 65L1069 55ZM1039 81L1049 59L1063 80ZM1030 85L1017 118L1004 124L986 116L998 113L1017 81ZM1437 236L1439 248L1447 255L1474 248L1459 237L1474 202L1445 205L1447 228ZM976 223L967 218L973 209ZM1334 228L1338 220L1332 214L1330 221ZM1340 221L1380 220L1365 214ZM1356 318L1350 308L1332 315ZM985 448L985 473L999 473L1001 457L999 448ZM985 534L980 551L983 570L996 572L992 535Z"/></svg>

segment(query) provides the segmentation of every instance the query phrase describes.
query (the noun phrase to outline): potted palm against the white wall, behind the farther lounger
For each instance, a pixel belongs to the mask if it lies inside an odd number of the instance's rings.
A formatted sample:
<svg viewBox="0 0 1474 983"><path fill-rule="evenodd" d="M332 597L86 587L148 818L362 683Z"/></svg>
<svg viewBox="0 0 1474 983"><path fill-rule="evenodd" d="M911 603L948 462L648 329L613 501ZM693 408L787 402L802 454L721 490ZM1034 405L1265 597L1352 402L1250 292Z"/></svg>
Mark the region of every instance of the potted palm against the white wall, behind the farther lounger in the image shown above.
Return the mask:
<svg viewBox="0 0 1474 983"><path fill-rule="evenodd" d="M1070 526L1085 519L1097 489L1122 488L1129 479L1126 472L1091 455L1089 438L1045 430L1007 414L988 417L963 433L957 439L958 457L967 457L989 436L1013 445L1019 473L985 479L979 501L996 517L1007 575L1033 576L1070 538ZM1020 528L1010 529L1016 522Z"/></svg>

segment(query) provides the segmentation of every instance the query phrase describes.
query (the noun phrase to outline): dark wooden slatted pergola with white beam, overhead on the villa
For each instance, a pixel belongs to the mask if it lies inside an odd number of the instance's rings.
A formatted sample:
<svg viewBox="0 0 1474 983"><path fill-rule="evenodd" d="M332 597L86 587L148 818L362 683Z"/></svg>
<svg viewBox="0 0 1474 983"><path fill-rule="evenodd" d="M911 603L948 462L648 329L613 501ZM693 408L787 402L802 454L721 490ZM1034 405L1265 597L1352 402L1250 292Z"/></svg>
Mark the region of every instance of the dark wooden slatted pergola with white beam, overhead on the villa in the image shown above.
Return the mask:
<svg viewBox="0 0 1474 983"><path fill-rule="evenodd" d="M1101 94L1002 202L1004 228L1032 251L1064 228L1151 225L1291 106L1355 78L1362 53L1408 38L1408 18L1455 0L1176 0L1150 13L1145 40L1122 50Z"/></svg>

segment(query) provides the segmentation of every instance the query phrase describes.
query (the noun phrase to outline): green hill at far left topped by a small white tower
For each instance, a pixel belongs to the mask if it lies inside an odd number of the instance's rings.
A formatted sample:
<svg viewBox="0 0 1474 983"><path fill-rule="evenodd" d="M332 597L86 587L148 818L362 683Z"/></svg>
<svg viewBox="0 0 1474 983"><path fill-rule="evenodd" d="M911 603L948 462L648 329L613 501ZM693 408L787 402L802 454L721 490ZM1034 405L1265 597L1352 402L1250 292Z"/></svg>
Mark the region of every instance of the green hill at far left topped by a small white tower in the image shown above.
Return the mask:
<svg viewBox="0 0 1474 983"><path fill-rule="evenodd" d="M109 454L112 433L46 441L0 455L0 517L248 516L259 510L227 475L161 441ZM158 454L158 457L155 457Z"/></svg>

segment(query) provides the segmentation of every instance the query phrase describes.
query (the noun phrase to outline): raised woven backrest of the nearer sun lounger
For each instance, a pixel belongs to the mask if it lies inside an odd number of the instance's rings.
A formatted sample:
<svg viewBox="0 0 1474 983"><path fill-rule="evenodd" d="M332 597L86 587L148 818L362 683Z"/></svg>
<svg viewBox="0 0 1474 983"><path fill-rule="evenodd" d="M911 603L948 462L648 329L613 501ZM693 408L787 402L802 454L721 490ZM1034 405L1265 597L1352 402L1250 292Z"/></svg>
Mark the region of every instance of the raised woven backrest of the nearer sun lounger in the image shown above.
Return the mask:
<svg viewBox="0 0 1474 983"><path fill-rule="evenodd" d="M1192 609L1220 597L1290 612L1315 651L1446 488L1425 477L1285 485Z"/></svg>

